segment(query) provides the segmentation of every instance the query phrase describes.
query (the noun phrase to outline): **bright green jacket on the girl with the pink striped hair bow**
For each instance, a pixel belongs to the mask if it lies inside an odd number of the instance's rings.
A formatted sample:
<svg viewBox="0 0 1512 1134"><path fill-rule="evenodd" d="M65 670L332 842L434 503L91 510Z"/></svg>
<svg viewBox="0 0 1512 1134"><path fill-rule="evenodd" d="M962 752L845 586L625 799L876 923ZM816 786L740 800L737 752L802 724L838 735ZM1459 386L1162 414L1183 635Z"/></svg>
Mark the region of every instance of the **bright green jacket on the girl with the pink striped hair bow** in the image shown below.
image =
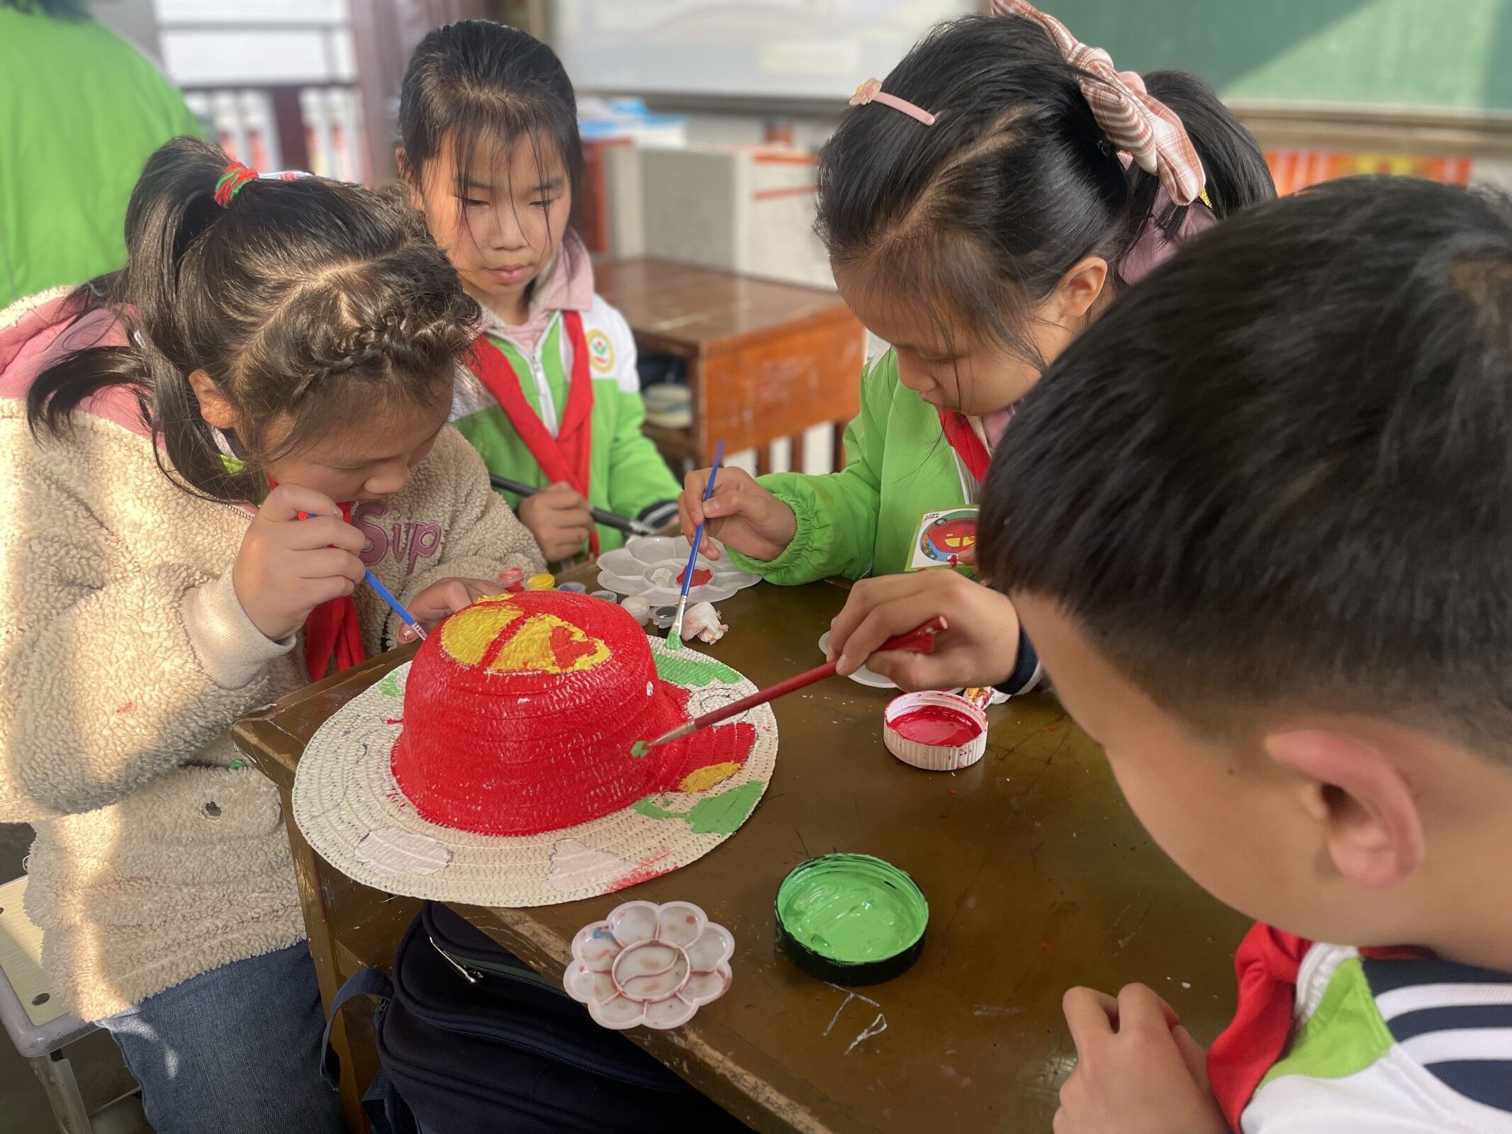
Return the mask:
<svg viewBox="0 0 1512 1134"><path fill-rule="evenodd" d="M925 513L977 502L977 482L945 440L939 414L898 381L892 351L862 378L860 414L845 431L845 469L771 473L761 484L792 508L797 534L770 562L735 550L730 558L783 585L897 575L909 565Z"/></svg>

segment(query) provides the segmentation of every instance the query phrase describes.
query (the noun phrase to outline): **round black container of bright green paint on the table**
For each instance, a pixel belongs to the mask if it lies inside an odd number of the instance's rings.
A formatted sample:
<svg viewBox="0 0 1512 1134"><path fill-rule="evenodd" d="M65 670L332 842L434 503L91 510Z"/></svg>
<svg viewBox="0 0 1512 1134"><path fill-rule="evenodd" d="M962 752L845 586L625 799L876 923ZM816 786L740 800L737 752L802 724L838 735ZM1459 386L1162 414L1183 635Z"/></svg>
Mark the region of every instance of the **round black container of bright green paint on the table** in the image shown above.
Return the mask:
<svg viewBox="0 0 1512 1134"><path fill-rule="evenodd" d="M924 951L930 904L904 871L871 854L821 854L777 888L777 943L833 984L892 980Z"/></svg>

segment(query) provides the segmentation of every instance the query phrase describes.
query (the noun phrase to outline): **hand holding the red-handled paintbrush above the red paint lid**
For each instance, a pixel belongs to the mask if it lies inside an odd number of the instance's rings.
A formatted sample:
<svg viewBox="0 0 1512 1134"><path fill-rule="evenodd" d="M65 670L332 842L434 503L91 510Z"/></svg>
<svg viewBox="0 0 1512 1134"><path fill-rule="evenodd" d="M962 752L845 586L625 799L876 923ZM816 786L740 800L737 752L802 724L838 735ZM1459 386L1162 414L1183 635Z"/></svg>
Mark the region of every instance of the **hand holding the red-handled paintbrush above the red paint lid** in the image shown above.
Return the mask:
<svg viewBox="0 0 1512 1134"><path fill-rule="evenodd" d="M934 635L933 653L872 653L934 615L945 615L947 629ZM996 685L1019 659L1019 615L1007 596L956 572L862 579L830 623L830 658L842 674L865 665L900 689Z"/></svg>

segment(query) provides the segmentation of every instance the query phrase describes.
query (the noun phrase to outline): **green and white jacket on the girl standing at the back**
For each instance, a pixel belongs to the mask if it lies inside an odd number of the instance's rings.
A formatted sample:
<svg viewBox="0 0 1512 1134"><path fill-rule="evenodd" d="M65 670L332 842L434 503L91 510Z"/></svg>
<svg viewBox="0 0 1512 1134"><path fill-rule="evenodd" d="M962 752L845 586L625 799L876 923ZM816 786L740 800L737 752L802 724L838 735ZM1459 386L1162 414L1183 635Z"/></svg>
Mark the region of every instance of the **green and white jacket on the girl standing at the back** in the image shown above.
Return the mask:
<svg viewBox="0 0 1512 1134"><path fill-rule="evenodd" d="M641 402L635 339L629 324L602 296L593 295L582 311L582 331L588 345L588 373L593 378L588 503L652 526L667 523L677 514L680 485L656 446L641 432L646 407ZM497 322L487 333L488 342L503 351L510 366L520 375L531 408L555 434L567 404L572 375L572 343L562 327L561 311L552 313L546 334L534 351L511 340ZM452 420L494 476L540 487L549 484L499 402L470 370L457 380ZM511 507L519 507L520 500L513 493L502 494ZM623 543L624 532L599 525L600 550L606 552Z"/></svg>

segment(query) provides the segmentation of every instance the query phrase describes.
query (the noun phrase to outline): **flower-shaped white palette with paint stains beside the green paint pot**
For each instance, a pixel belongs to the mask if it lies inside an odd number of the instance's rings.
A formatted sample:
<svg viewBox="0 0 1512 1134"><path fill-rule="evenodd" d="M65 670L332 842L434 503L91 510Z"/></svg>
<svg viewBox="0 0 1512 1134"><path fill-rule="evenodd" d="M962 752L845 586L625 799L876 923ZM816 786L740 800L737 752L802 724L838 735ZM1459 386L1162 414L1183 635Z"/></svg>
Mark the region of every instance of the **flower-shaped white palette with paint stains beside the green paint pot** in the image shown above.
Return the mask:
<svg viewBox="0 0 1512 1134"><path fill-rule="evenodd" d="M572 940L567 995L606 1028L676 1028L730 987L735 937L686 901L627 901Z"/></svg>

